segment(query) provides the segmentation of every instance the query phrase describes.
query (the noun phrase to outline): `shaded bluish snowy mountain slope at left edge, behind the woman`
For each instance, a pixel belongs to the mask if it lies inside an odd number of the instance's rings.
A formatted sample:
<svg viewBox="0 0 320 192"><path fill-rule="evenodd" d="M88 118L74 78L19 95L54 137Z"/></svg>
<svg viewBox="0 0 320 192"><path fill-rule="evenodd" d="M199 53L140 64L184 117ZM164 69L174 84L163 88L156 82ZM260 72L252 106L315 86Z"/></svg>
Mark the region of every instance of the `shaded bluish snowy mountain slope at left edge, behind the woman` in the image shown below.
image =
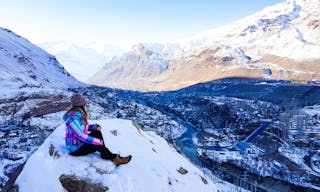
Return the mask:
<svg viewBox="0 0 320 192"><path fill-rule="evenodd" d="M64 108L65 90L85 86L54 56L3 28L0 28L0 85L0 122ZM48 108L49 103L54 109Z"/></svg>

